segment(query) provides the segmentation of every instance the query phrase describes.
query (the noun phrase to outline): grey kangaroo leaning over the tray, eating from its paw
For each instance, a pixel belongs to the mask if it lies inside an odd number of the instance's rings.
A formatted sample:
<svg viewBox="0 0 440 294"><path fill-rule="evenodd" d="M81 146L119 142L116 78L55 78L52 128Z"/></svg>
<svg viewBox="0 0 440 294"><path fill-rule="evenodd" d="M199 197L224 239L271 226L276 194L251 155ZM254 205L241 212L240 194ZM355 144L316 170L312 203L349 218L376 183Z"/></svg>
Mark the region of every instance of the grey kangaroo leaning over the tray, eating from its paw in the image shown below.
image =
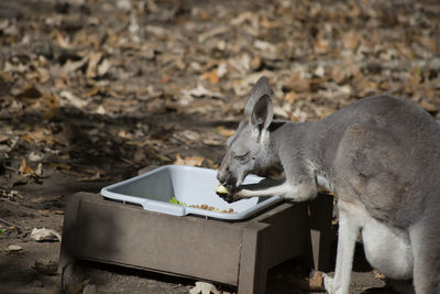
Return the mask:
<svg viewBox="0 0 440 294"><path fill-rule="evenodd" d="M273 121L272 90L260 78L244 119L227 142L218 179L227 202L280 195L294 202L338 195L339 239L329 293L349 293L361 232L367 261L391 279L410 280L417 294L440 293L440 124L409 101L380 95L310 122ZM242 185L279 163L285 179ZM414 290L413 290L414 291Z"/></svg>

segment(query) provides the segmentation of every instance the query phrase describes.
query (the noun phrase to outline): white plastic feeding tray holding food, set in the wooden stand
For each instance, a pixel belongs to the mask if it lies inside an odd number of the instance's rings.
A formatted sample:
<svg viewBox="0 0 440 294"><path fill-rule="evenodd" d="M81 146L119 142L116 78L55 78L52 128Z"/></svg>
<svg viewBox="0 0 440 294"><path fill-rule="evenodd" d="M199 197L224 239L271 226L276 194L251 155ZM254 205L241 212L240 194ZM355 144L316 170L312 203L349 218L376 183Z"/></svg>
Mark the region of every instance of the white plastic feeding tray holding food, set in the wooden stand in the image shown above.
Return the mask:
<svg viewBox="0 0 440 294"><path fill-rule="evenodd" d="M219 184L217 171L194 166L166 165L140 176L107 186L101 189L106 198L141 205L145 210L174 216L198 215L202 217L242 220L251 215L280 202L279 196L271 198L250 198L228 204L215 192ZM262 179L249 175L243 184L254 184ZM170 204L176 197L186 205L208 205L219 210L232 208L237 214L205 210L201 208Z"/></svg>

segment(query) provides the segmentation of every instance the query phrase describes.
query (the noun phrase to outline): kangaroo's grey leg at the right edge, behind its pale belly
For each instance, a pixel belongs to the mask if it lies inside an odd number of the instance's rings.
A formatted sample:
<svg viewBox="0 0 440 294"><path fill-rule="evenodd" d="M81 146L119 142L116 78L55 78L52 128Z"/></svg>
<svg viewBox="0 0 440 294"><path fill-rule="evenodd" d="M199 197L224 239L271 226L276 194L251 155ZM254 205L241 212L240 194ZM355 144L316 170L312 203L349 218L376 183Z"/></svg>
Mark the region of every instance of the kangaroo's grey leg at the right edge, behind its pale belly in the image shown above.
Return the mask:
<svg viewBox="0 0 440 294"><path fill-rule="evenodd" d="M440 293L439 224L419 221L409 231L414 254L414 286L417 294Z"/></svg>

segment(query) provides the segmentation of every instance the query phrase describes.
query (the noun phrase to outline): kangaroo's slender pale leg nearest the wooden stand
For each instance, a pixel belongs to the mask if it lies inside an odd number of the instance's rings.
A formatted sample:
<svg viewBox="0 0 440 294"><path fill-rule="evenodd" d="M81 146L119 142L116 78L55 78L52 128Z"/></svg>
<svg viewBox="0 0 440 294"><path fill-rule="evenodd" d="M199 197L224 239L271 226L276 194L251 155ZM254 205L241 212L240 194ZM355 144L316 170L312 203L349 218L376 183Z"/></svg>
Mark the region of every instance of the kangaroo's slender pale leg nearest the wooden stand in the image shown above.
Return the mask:
<svg viewBox="0 0 440 294"><path fill-rule="evenodd" d="M348 294L351 270L360 226L350 211L339 203L339 238L334 277L324 274L324 287L330 294Z"/></svg>

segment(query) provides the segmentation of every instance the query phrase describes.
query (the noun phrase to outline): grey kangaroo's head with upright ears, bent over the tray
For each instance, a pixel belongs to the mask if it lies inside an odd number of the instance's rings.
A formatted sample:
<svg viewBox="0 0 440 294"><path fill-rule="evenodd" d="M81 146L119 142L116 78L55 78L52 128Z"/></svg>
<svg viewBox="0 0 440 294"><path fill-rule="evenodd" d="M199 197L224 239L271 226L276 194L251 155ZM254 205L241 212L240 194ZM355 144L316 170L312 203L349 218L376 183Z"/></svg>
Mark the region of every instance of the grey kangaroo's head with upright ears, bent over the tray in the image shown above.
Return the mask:
<svg viewBox="0 0 440 294"><path fill-rule="evenodd" d="M260 78L244 108L244 119L227 142L217 178L230 190L239 187L249 173L273 162L268 132L273 119L271 96L267 78Z"/></svg>

